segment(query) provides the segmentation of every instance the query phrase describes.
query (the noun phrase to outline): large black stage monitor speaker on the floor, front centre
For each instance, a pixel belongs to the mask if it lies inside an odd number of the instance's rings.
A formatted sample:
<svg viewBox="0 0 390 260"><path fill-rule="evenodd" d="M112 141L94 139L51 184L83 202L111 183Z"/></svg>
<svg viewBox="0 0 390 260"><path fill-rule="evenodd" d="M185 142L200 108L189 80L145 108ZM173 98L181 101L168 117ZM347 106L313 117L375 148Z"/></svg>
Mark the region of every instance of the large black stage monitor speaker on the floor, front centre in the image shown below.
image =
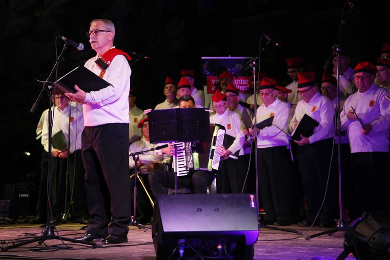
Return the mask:
<svg viewBox="0 0 390 260"><path fill-rule="evenodd" d="M157 195L152 239L157 260L253 259L259 236L251 194Z"/></svg>

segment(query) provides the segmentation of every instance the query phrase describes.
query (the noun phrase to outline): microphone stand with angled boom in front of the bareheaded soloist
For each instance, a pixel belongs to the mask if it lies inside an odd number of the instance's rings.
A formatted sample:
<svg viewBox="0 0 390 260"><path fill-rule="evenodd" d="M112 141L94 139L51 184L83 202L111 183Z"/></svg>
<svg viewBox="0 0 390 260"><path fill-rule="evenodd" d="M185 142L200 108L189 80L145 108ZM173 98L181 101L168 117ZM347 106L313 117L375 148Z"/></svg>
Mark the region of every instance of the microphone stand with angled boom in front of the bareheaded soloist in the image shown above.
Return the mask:
<svg viewBox="0 0 390 260"><path fill-rule="evenodd" d="M23 245L26 245L26 244L30 244L30 243L33 243L33 242L36 242L36 241L39 241L39 243L43 243L45 240L61 240L61 241L69 241L69 242L73 242L73 243L81 243L81 244L88 244L88 245L91 245L92 248L96 248L97 247L97 244L95 242L87 242L87 241L78 241L78 240L74 240L74 239L70 239L70 238L65 238L65 237L61 237L58 235L58 232L55 231L55 225L53 223L53 225L51 224L51 220L53 218L52 216L52 212L51 212L51 146L52 146L52 136L51 136L51 133L52 133L52 129L51 129L51 126L52 126L52 110L51 110L51 107L52 107L52 103L51 103L51 95L53 93L53 90L55 89L55 85L53 84L53 82L50 81L50 79L52 78L53 74L54 74L54 71L55 69L58 67L58 64L62 61L62 56L63 56L63 53L65 52L66 48L67 48L68 44L64 44L63 47L62 47L62 52L61 54L59 55L59 57L57 58L56 60L56 63L54 64L50 74L49 74L49 77L47 77L47 79L45 80L45 82L43 83L43 87L41 89L41 93L39 94L37 100L34 102L34 104L32 105L31 109L30 109L30 112L31 113L34 113L37 106L38 106L38 103L40 102L42 96L43 96L43 93L45 92L45 90L47 90L49 93L48 93L48 99L49 99L49 111L48 111L48 160L47 160L47 222L46 222L46 226L43 227L43 230L41 232L41 236L40 237L37 237L37 238L33 238L33 239L30 239L30 240L25 240L23 242L20 242L20 243L15 243L15 244L12 244L12 245L5 245L5 246L2 246L1 247L1 251L8 251L9 249L12 249L12 248L17 248L17 247L20 247L20 246L23 246ZM57 232L57 236L54 235L55 233L54 232Z"/></svg>

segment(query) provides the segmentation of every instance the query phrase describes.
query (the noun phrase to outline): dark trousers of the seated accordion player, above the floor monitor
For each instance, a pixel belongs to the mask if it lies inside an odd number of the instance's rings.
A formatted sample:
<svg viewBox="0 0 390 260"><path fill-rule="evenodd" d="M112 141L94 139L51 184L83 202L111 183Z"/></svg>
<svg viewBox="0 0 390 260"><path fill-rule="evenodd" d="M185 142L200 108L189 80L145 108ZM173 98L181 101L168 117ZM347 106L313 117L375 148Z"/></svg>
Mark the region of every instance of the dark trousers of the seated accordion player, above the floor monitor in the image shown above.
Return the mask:
<svg viewBox="0 0 390 260"><path fill-rule="evenodd" d="M168 188L175 188L175 173L160 170L152 171L149 173L149 185L153 195L167 194ZM209 185L211 185L210 174L204 171L196 171L189 177L177 178L178 188L193 188L195 194L206 194Z"/></svg>

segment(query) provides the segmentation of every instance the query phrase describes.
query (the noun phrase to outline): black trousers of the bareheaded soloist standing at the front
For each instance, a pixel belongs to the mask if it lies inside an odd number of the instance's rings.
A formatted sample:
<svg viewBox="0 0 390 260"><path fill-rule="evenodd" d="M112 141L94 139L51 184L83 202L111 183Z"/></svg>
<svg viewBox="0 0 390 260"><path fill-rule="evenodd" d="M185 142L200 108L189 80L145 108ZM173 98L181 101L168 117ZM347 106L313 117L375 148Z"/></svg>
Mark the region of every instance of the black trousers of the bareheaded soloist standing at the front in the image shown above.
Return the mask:
<svg viewBox="0 0 390 260"><path fill-rule="evenodd" d="M131 207L128 136L129 126L122 123L87 126L82 132L84 183L90 215L86 232L98 237L128 233Z"/></svg>

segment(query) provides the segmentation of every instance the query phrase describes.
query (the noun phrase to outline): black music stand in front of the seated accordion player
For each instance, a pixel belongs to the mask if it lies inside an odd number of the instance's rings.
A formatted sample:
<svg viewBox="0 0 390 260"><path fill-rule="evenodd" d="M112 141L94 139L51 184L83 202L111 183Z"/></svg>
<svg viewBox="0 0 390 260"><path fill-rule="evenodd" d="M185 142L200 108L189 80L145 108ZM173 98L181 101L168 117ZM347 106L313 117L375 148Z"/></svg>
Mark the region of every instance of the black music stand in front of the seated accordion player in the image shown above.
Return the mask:
<svg viewBox="0 0 390 260"><path fill-rule="evenodd" d="M148 118L151 143L210 141L210 118L204 108L153 110L148 114Z"/></svg>

